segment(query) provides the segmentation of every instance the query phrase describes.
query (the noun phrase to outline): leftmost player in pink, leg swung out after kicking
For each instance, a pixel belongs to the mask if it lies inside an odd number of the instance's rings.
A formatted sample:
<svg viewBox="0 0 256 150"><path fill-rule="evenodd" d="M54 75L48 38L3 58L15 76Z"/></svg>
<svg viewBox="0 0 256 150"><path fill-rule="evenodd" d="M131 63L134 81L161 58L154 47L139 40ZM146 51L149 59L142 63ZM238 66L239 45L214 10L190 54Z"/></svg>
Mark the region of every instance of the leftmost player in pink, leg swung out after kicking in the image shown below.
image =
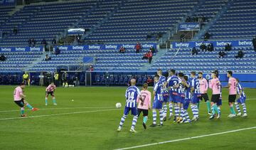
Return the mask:
<svg viewBox="0 0 256 150"><path fill-rule="evenodd" d="M28 104L28 102L25 100L26 95L23 94L23 89L25 88L25 84L21 83L20 86L16 87L14 90L14 102L16 105L21 107L21 117L26 117L26 114L24 114L24 106L28 107L32 111L38 110L38 108L33 108L31 105Z"/></svg>

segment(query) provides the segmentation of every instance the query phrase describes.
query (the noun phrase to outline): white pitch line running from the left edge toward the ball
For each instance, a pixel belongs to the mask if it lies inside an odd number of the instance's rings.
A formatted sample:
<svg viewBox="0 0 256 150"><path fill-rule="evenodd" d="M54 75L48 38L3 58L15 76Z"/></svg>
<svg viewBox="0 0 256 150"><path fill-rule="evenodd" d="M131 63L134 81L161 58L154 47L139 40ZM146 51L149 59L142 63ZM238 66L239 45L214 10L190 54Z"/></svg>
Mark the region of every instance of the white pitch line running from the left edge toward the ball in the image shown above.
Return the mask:
<svg viewBox="0 0 256 150"><path fill-rule="evenodd" d="M66 115L66 114L82 114L82 113L89 113L89 112L107 112L107 111L113 111L113 110L119 110L119 109L102 109L102 110L92 110L92 111L85 111L85 112L66 112L66 113L60 113L60 114L44 114L44 115L28 116L28 117L2 118L2 119L0 119L0 121L11 120L11 119L26 119L26 118L36 118L36 117L60 116L60 115Z"/></svg>

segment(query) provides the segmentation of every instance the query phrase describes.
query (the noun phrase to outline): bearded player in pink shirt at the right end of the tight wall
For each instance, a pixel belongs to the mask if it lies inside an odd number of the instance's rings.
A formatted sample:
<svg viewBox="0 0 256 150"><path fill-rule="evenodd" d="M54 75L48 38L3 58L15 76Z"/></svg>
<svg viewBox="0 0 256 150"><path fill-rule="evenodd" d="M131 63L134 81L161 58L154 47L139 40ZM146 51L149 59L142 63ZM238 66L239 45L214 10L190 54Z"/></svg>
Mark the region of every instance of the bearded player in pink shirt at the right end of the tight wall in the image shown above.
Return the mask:
<svg viewBox="0 0 256 150"><path fill-rule="evenodd" d="M209 97L207 94L207 90L208 90L208 82L206 80L206 78L203 78L203 73L199 72L198 73L198 80L199 80L199 84L200 84L200 92L201 92L201 100L205 100L206 105L207 105L207 110L208 110L208 114L211 114L210 112L210 101L209 101Z"/></svg>

